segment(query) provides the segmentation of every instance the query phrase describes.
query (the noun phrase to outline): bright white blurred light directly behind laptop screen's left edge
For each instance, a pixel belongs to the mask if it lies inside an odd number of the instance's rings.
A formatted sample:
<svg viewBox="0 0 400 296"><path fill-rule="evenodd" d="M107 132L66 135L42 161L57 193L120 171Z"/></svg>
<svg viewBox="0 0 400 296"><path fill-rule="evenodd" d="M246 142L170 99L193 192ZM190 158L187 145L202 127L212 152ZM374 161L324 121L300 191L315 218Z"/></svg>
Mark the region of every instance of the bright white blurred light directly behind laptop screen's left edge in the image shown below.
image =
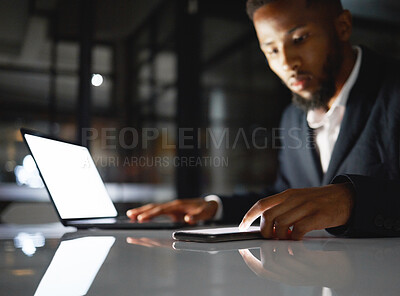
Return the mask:
<svg viewBox="0 0 400 296"><path fill-rule="evenodd" d="M17 165L14 169L15 178L18 185L27 185L31 188L43 188L43 182L35 161L31 155L25 156L22 165Z"/></svg>

